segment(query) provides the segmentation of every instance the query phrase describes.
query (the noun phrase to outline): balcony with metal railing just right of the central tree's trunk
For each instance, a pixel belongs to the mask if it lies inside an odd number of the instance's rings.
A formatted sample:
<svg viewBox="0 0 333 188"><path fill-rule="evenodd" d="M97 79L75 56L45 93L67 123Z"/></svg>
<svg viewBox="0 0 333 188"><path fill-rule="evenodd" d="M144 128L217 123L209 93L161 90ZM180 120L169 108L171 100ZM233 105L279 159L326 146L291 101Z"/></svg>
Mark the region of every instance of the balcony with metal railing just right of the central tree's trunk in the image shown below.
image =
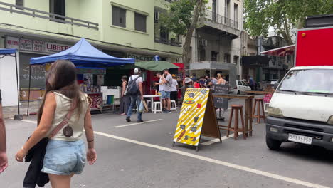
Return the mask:
<svg viewBox="0 0 333 188"><path fill-rule="evenodd" d="M210 28L223 33L225 36L230 38L237 38L240 36L240 30L238 29L238 22L232 19L228 19L225 16L221 16L213 11L205 9L203 17L201 17L200 22L203 28Z"/></svg>

